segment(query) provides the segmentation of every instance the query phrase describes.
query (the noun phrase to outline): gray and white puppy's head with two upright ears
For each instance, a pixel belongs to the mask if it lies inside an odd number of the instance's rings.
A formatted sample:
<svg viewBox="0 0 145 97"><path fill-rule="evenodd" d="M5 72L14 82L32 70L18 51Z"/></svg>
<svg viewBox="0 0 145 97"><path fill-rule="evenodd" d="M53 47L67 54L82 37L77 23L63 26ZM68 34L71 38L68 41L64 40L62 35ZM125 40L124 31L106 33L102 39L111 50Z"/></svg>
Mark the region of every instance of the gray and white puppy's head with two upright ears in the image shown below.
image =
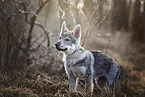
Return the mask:
<svg viewBox="0 0 145 97"><path fill-rule="evenodd" d="M64 21L61 26L60 39L55 44L59 51L73 53L78 47L81 38L81 26L77 25L73 31L69 31Z"/></svg>

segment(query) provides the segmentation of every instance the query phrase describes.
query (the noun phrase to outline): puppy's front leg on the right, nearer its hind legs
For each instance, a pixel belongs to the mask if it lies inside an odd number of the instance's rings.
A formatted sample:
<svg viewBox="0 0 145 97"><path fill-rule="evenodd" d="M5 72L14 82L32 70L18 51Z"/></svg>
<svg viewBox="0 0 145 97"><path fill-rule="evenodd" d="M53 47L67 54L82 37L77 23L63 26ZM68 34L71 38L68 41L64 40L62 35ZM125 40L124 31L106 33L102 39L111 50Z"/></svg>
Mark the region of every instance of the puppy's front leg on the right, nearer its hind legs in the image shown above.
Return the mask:
<svg viewBox="0 0 145 97"><path fill-rule="evenodd" d="M94 84L93 84L93 76L92 75L85 77L85 88L86 88L86 93L93 92Z"/></svg>

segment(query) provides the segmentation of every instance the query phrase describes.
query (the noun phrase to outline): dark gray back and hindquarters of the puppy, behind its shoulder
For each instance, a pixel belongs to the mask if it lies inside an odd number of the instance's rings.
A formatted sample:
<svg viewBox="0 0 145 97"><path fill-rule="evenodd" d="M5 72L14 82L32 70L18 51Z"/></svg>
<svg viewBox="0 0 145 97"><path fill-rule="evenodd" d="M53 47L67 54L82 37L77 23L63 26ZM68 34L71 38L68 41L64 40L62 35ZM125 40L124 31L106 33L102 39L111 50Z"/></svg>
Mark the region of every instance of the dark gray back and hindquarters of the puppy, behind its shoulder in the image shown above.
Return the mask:
<svg viewBox="0 0 145 97"><path fill-rule="evenodd" d="M93 74L94 77L105 76L108 80L108 86L113 90L115 83L120 75L120 68L118 64L110 57L99 53L92 52L95 58L94 69L96 70Z"/></svg>

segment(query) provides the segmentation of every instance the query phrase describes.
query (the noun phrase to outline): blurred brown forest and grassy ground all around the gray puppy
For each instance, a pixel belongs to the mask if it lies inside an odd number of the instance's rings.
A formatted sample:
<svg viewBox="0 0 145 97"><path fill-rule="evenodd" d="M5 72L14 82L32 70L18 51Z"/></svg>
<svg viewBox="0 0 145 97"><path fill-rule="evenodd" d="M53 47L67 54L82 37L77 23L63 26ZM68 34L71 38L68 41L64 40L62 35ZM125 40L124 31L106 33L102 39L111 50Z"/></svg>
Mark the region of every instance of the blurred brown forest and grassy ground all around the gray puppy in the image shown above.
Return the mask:
<svg viewBox="0 0 145 97"><path fill-rule="evenodd" d="M69 92L54 47L64 20L121 67L121 91L94 97L145 97L145 0L0 0L0 97L86 96Z"/></svg>

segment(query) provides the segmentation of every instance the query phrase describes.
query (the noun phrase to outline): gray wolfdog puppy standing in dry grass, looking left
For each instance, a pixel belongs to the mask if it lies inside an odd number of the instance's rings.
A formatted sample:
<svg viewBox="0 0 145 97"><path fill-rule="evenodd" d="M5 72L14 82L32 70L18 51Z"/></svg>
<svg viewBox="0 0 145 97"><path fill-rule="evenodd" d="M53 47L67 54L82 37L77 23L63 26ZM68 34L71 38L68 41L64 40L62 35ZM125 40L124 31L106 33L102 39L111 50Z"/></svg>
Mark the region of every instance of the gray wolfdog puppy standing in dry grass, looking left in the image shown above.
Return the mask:
<svg viewBox="0 0 145 97"><path fill-rule="evenodd" d="M114 90L116 81L120 80L120 68L112 58L100 52L92 52L80 46L81 26L69 31L66 22L62 23L60 40L55 44L63 52L65 71L69 79L70 91L76 91L78 79L85 80L86 92L93 91L93 80L98 88Z"/></svg>

